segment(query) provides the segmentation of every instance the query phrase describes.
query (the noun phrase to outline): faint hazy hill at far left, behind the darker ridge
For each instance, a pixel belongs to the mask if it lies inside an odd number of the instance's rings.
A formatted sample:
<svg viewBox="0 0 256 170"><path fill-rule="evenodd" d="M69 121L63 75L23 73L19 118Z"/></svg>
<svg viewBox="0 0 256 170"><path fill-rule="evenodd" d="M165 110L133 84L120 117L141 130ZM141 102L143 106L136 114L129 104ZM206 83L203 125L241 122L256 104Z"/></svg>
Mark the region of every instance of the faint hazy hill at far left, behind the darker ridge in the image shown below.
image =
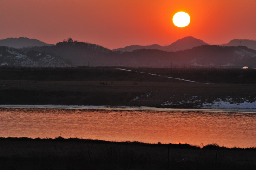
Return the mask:
<svg viewBox="0 0 256 170"><path fill-rule="evenodd" d="M23 48L23 47L33 47L33 46L52 46L52 45L53 44L46 44L37 39L30 39L26 37L1 39L1 46L8 46L12 48Z"/></svg>

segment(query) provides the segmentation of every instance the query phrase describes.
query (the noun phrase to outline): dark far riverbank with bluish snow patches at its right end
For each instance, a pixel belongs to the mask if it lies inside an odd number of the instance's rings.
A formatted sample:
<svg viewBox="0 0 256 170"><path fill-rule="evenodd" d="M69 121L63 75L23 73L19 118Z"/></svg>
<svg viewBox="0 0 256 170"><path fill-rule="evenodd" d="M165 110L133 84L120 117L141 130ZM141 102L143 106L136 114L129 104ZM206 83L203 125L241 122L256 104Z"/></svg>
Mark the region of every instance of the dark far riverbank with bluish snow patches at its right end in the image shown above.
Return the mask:
<svg viewBox="0 0 256 170"><path fill-rule="evenodd" d="M255 108L255 84L1 80L1 105Z"/></svg>

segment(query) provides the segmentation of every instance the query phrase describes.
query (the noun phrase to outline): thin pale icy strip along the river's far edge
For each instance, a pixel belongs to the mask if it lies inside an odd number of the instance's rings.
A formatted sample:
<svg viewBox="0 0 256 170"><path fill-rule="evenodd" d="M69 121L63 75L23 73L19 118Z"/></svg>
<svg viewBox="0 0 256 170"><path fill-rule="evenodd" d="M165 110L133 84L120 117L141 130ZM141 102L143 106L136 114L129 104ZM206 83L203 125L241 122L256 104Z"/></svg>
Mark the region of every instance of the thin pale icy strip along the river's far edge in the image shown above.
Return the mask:
<svg viewBox="0 0 256 170"><path fill-rule="evenodd" d="M203 112L235 112L235 113L256 113L255 108L157 108L147 106L109 106L109 105L0 105L3 108L52 108L52 109L98 109L98 110L141 110L141 111L203 111Z"/></svg>

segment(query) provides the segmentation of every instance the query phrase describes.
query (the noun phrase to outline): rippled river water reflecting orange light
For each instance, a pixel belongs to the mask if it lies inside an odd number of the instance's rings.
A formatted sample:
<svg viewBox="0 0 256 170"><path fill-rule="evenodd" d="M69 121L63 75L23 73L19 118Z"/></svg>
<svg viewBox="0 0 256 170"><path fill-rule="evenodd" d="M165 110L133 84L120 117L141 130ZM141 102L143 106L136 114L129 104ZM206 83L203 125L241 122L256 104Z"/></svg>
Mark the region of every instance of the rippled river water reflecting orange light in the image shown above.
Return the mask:
<svg viewBox="0 0 256 170"><path fill-rule="evenodd" d="M255 147L255 113L1 108L1 137Z"/></svg>

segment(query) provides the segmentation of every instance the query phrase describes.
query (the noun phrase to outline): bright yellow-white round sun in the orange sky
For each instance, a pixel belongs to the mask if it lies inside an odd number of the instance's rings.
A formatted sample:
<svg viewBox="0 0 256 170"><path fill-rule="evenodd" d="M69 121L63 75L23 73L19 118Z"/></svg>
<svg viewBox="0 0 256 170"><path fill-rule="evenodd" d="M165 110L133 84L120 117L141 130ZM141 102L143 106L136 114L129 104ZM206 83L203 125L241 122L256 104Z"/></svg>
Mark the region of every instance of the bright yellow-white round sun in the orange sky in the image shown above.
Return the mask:
<svg viewBox="0 0 256 170"><path fill-rule="evenodd" d="M190 23L190 16L185 12L178 12L172 18L173 24L177 27L185 27Z"/></svg>

